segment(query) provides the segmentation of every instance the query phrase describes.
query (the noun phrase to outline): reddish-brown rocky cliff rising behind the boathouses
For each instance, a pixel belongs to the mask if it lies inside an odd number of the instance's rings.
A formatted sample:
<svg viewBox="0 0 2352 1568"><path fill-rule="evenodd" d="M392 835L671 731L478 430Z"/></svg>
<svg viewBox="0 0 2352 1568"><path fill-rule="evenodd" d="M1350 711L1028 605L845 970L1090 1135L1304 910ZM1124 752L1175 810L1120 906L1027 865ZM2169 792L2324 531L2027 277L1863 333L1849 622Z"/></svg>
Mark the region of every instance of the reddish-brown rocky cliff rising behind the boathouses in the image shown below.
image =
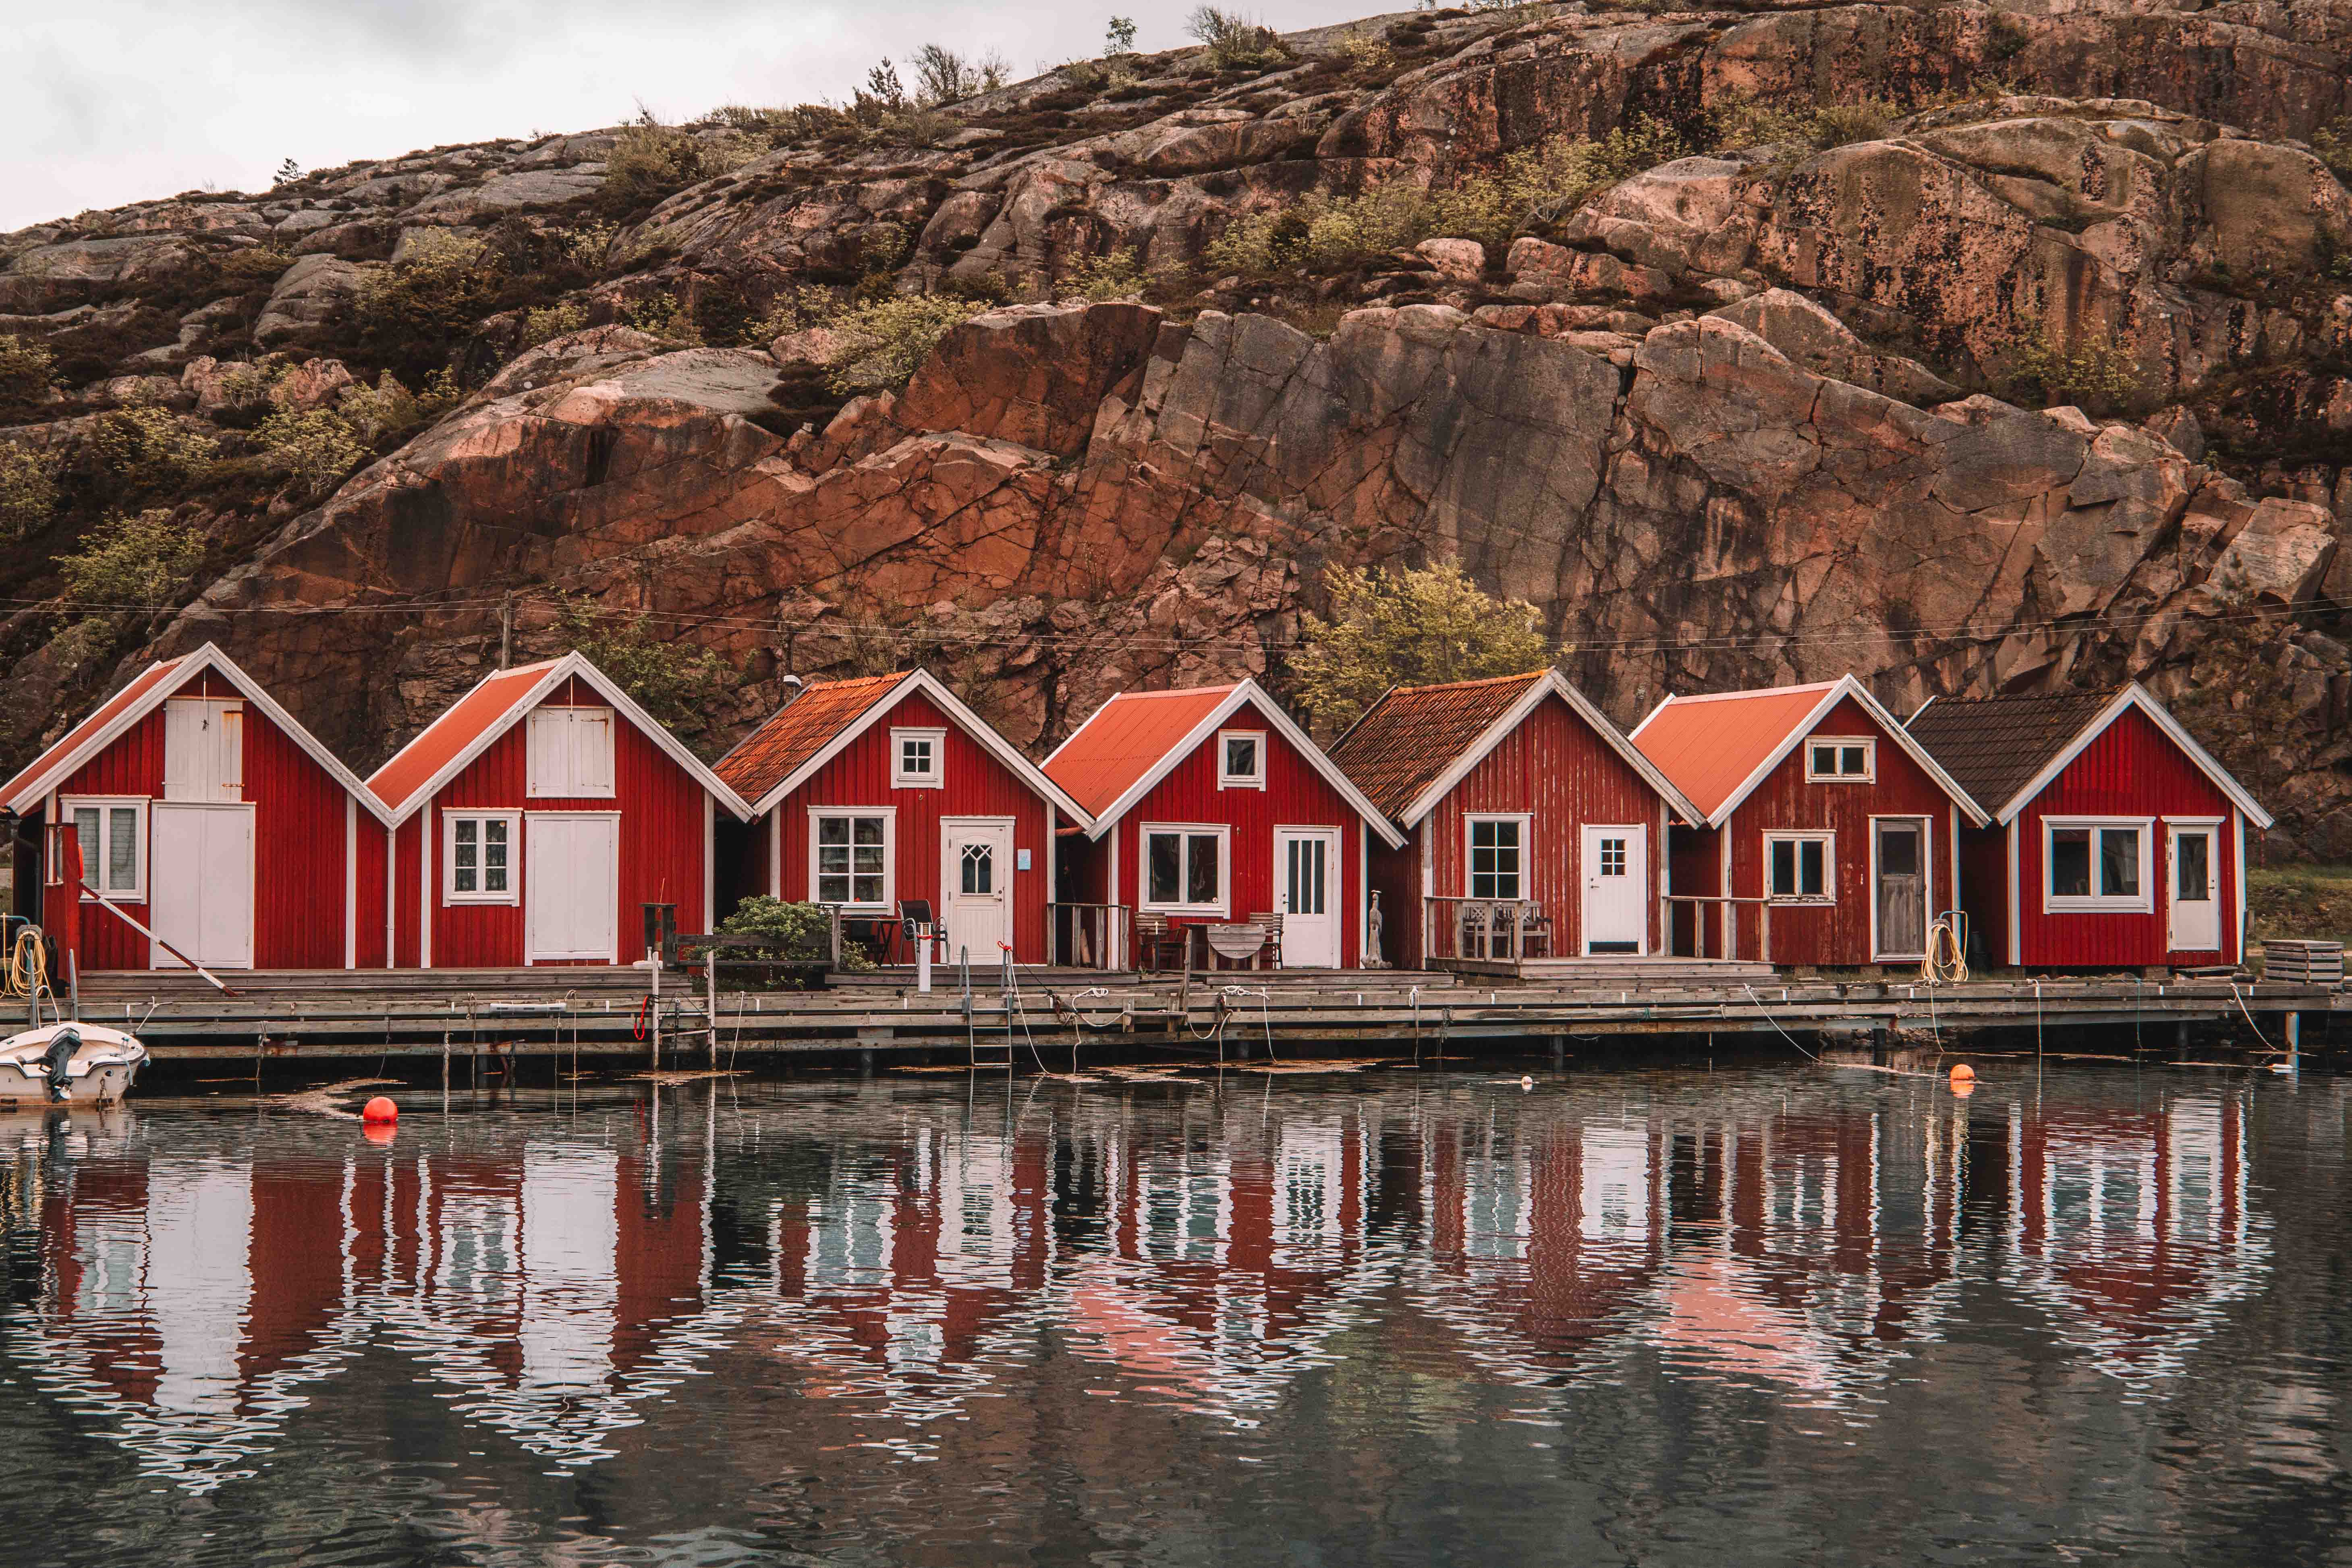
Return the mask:
<svg viewBox="0 0 2352 1568"><path fill-rule="evenodd" d="M920 658L1042 745L1449 555L1618 717L2138 677L2352 853L2347 71L2345 0L1411 12L736 113L635 197L642 127L7 235L56 482L0 741L212 637L374 762L576 595L743 668L706 743ZM452 233L482 287L388 315ZM894 296L981 313L861 390L826 308ZM125 411L209 456L125 477ZM205 559L75 630L47 562L129 505Z"/></svg>

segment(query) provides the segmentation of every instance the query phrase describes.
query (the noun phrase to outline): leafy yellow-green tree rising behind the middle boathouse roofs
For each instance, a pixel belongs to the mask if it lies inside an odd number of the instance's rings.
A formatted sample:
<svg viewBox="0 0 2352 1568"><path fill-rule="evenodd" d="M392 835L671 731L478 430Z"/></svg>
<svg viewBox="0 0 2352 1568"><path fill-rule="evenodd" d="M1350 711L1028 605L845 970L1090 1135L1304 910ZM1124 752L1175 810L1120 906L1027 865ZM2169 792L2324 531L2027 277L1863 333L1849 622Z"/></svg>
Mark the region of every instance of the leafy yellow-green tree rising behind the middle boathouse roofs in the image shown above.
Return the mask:
<svg viewBox="0 0 2352 1568"><path fill-rule="evenodd" d="M1526 599L1496 599L1454 562L1392 571L1343 567L1324 578L1331 618L1305 616L1291 658L1298 701L1338 733L1390 686L1519 675L1552 663Z"/></svg>

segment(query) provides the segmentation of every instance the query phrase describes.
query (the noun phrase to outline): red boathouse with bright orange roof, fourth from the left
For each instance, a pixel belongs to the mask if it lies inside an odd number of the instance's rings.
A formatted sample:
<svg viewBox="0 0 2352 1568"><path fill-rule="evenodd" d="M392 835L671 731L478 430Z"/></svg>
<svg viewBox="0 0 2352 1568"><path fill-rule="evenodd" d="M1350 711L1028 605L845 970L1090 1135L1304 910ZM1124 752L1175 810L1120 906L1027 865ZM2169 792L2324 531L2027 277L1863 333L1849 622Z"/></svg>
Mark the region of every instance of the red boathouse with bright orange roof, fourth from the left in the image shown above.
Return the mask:
<svg viewBox="0 0 2352 1568"><path fill-rule="evenodd" d="M1174 929L1279 914L1287 969L1362 964L1367 846L1404 835L1256 682L1122 691L1044 771L1091 818L1075 898Z"/></svg>

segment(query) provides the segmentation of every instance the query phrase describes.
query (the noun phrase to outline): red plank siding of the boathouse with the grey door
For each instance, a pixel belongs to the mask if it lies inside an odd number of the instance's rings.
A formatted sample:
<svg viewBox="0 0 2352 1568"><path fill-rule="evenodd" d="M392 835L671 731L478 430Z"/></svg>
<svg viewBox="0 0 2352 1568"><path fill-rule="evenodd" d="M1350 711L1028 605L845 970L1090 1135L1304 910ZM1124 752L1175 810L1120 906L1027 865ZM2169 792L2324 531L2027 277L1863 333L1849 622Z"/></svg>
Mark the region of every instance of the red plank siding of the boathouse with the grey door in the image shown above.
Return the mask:
<svg viewBox="0 0 2352 1568"><path fill-rule="evenodd" d="M1832 708L1809 736L1877 736L1875 783L1806 783L1804 743L1733 809L1731 893L1764 896L1764 835L1778 830L1832 830L1837 900L1828 907L1771 912L1773 964L1875 964L1870 952L1870 818L1924 816L1929 849L1929 910L1952 907L1952 797L1912 762L1856 701ZM1759 910L1743 905L1736 917L1738 954L1755 959Z"/></svg>

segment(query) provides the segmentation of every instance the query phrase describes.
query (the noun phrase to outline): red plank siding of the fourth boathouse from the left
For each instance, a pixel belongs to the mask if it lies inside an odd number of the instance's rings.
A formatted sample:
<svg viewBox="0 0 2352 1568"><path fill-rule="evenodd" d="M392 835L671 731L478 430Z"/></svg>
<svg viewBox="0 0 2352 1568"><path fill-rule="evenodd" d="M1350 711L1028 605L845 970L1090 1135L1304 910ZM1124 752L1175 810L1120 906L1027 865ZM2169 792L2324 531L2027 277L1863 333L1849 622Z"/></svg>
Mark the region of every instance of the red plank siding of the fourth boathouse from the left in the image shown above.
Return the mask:
<svg viewBox="0 0 2352 1568"><path fill-rule="evenodd" d="M1143 823L1225 823L1232 827L1232 877L1225 889L1225 917L1247 919L1275 905L1275 827L1338 827L1338 877L1331 910L1338 917L1338 961L1355 969L1362 961L1364 820L1345 795L1265 722L1263 712L1237 710L1218 729L1265 729L1265 788L1216 788L1216 736L1192 748L1167 778L1150 788L1112 835L1120 844L1117 903L1141 905L1141 830ZM1101 853L1101 846L1096 846ZM1383 900L1385 903L1385 900ZM1200 924L1171 914L1171 924ZM1385 938L1383 938L1385 945Z"/></svg>

